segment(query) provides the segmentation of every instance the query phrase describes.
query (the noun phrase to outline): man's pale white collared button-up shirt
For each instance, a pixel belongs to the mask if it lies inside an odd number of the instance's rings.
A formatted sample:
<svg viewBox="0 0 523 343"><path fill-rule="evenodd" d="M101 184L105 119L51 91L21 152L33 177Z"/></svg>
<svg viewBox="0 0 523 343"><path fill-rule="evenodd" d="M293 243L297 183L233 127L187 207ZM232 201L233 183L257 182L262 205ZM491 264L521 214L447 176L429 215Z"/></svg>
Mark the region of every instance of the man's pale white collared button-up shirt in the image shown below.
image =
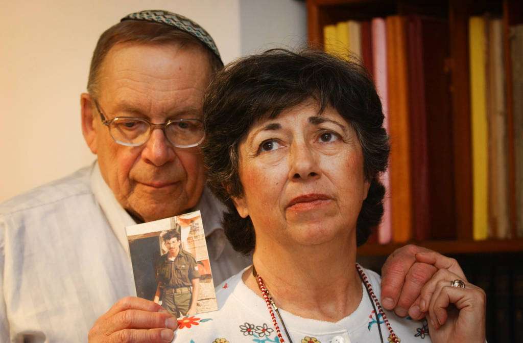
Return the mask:
<svg viewBox="0 0 523 343"><path fill-rule="evenodd" d="M248 263L225 241L222 206L206 189L195 207L216 284ZM87 341L100 315L135 295L132 224L96 162L0 204L0 341Z"/></svg>

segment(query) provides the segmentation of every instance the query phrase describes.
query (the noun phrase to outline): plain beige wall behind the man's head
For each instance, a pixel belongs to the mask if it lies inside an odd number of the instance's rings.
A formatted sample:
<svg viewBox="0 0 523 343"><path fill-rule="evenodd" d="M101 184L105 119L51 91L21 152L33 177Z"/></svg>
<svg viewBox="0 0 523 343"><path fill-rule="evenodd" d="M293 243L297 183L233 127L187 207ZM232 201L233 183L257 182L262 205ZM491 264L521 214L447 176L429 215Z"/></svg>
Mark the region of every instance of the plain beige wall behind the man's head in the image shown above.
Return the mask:
<svg viewBox="0 0 523 343"><path fill-rule="evenodd" d="M259 31L244 29L241 37L241 6L256 6L259 12L260 3L268 18L273 11L288 11L299 27L291 23L287 30L295 28L298 34L274 31L262 36ZM285 40L305 34L304 4L297 0L2 2L0 202L94 160L81 133L79 94L85 91L96 41L122 16L157 8L183 14L206 28L225 63L245 52L242 40L247 42L244 46L261 46L264 39ZM271 28L261 26L258 30Z"/></svg>

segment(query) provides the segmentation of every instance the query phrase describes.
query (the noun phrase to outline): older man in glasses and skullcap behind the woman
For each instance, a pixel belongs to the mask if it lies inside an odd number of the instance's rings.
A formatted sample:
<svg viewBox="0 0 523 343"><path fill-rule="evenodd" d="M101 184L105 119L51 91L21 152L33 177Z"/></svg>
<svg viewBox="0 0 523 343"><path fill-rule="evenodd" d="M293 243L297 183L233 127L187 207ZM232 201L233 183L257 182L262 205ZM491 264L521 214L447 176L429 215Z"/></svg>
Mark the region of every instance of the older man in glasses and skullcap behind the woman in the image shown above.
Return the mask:
<svg viewBox="0 0 523 343"><path fill-rule="evenodd" d="M198 151L202 95L221 67L212 38L183 16L134 13L101 35L81 95L97 161L0 205L0 341L85 341L100 315L93 341L172 339L174 317L129 297L127 225L199 209L215 281L249 263L225 240ZM421 250L396 252L384 271L384 306L402 315L435 271L415 263Z"/></svg>

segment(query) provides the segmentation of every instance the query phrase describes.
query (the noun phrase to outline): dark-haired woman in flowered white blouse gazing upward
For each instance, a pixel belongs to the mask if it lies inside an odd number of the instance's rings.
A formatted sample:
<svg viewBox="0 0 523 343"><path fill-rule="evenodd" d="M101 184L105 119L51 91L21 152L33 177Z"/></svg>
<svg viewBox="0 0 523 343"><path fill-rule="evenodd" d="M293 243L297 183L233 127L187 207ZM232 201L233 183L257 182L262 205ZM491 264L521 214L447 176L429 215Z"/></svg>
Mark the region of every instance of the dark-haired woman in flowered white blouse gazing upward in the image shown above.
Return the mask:
<svg viewBox="0 0 523 343"><path fill-rule="evenodd" d="M379 276L356 264L389 154L359 65L308 50L244 58L217 75L204 113L210 186L253 265L222 284L219 311L181 320L176 342L485 340L484 292L462 273L441 269L424 287L427 324L384 311Z"/></svg>

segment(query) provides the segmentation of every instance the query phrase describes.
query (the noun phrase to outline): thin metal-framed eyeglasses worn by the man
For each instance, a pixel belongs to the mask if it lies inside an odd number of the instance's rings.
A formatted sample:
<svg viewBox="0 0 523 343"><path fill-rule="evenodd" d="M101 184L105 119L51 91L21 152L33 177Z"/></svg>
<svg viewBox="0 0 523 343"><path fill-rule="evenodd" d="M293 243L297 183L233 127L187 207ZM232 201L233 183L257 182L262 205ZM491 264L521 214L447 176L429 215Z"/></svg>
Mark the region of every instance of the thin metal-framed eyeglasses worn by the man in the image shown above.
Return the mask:
<svg viewBox="0 0 523 343"><path fill-rule="evenodd" d="M198 119L167 120L163 124L154 124L143 118L116 117L107 120L101 112L98 102L94 101L100 114L101 122L109 128L109 135L118 144L138 147L149 140L155 128L162 129L167 141L177 148L196 147L203 141L203 123Z"/></svg>

